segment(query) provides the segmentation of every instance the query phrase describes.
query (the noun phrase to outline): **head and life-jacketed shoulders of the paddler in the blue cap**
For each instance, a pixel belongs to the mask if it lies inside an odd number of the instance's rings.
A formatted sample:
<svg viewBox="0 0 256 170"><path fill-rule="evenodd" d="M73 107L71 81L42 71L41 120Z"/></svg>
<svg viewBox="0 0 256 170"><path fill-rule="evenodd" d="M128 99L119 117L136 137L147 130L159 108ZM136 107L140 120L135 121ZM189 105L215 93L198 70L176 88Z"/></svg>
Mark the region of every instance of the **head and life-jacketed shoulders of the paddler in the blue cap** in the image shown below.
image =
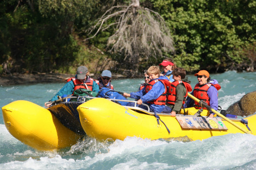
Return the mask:
<svg viewBox="0 0 256 170"><path fill-rule="evenodd" d="M109 70L103 70L102 76L98 80L94 80L102 89L102 87L114 90L114 86L111 84L111 72Z"/></svg>

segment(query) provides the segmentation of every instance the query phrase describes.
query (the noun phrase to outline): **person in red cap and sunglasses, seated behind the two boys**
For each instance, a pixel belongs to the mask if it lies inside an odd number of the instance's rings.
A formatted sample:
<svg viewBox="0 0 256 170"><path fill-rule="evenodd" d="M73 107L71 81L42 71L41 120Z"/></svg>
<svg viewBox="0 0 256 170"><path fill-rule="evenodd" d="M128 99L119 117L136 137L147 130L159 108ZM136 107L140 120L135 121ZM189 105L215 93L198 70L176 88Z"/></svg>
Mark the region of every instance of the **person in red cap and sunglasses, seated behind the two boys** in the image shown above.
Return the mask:
<svg viewBox="0 0 256 170"><path fill-rule="evenodd" d="M174 79L172 78L173 77L172 76L172 70L174 70L176 68L176 64L172 61L172 59L171 58L165 58L163 60L163 62L160 63L159 65L161 65L163 70L164 70L163 72L161 72L160 76L166 76L166 77L169 78L169 80L171 82L173 82Z"/></svg>

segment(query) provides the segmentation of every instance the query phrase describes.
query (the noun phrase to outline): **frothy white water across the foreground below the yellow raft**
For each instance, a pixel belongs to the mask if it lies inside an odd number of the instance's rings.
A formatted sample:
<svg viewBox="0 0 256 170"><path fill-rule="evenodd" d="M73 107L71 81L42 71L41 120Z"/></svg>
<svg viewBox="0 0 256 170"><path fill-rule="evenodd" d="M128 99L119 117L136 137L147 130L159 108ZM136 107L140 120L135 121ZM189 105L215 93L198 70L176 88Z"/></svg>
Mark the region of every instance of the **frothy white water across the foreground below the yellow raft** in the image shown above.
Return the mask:
<svg viewBox="0 0 256 170"><path fill-rule="evenodd" d="M92 142L96 142L92 140ZM227 170L239 167L255 167L256 137L247 134L230 134L192 142L149 140L136 137L124 141L103 142L105 153L100 152L99 144L79 159L26 150L13 156L27 157L26 160L13 160L0 164L0 169L11 170ZM88 149L88 148L87 148ZM95 149L98 152L95 152ZM72 150L70 148L70 150ZM73 153L76 155L77 153ZM41 155L41 156L40 156ZM83 155L83 154L82 154ZM2 155L4 156L4 155ZM66 156L66 158L65 158ZM70 157L71 156L71 157Z"/></svg>

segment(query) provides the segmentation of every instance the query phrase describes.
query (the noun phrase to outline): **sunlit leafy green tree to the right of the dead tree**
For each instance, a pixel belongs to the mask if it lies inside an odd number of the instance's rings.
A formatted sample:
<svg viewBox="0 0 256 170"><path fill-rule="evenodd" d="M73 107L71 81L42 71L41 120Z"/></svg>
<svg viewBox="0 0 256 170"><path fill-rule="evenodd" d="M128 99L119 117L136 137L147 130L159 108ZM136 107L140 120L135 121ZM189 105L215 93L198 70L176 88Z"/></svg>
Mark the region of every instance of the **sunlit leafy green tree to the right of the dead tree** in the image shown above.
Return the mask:
<svg viewBox="0 0 256 170"><path fill-rule="evenodd" d="M171 28L174 60L188 71L216 71L229 62L240 63L243 59L232 54L255 41L255 0L151 1Z"/></svg>

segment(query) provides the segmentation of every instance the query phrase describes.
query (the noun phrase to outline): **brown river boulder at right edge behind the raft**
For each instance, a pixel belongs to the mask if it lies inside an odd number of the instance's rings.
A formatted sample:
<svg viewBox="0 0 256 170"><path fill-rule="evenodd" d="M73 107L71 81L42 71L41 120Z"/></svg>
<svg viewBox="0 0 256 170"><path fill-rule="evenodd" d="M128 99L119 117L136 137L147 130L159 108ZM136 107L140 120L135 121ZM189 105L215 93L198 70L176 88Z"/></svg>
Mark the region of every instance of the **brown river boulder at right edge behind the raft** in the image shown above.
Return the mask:
<svg viewBox="0 0 256 170"><path fill-rule="evenodd" d="M227 114L248 116L256 112L256 91L245 94L238 102L231 105Z"/></svg>

